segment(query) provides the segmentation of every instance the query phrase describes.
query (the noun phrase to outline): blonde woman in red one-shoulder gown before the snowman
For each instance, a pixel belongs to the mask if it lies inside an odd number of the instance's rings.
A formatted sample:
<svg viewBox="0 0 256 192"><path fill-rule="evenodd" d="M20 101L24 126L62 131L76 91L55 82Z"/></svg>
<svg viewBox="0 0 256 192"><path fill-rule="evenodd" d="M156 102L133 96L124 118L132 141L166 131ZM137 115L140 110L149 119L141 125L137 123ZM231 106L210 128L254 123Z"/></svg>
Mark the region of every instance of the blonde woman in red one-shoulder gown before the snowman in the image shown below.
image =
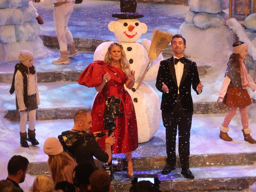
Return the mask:
<svg viewBox="0 0 256 192"><path fill-rule="evenodd" d="M132 98L124 89L132 89L135 82L135 72L130 69L124 48L119 42L113 42L108 47L104 61L92 62L81 74L78 83L87 87L95 87L98 92L92 106L92 129L90 132L103 131L103 114L105 109L106 80L108 81L108 97L120 98L120 111L123 117L116 117L114 131L116 143L113 153L124 153L128 163L127 176L133 176L132 151L138 148L138 128ZM105 150L105 139L99 140L100 147ZM79 163L79 162L77 162Z"/></svg>

